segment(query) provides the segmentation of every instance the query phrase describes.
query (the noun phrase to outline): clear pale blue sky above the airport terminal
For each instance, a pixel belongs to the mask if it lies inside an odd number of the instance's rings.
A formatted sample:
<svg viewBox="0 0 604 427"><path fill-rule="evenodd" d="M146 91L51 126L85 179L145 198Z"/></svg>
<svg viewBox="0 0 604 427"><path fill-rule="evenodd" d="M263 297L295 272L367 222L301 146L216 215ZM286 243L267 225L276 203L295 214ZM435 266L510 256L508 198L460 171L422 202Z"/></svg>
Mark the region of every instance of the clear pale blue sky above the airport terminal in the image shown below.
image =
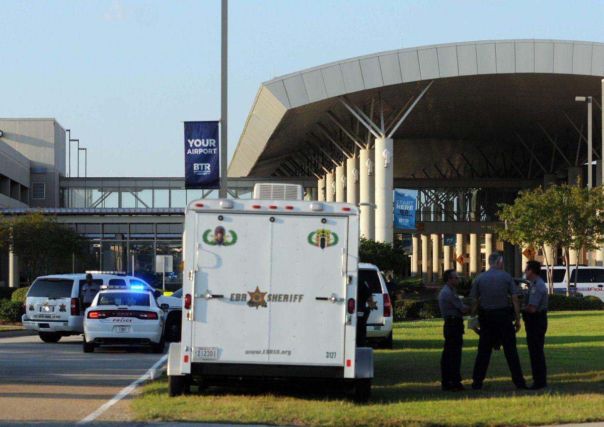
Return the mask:
<svg viewBox="0 0 604 427"><path fill-rule="evenodd" d="M275 73L433 43L604 42L601 1L229 3L229 159ZM0 117L56 117L89 176L184 175L181 122L220 116L220 0L2 0L0 16Z"/></svg>

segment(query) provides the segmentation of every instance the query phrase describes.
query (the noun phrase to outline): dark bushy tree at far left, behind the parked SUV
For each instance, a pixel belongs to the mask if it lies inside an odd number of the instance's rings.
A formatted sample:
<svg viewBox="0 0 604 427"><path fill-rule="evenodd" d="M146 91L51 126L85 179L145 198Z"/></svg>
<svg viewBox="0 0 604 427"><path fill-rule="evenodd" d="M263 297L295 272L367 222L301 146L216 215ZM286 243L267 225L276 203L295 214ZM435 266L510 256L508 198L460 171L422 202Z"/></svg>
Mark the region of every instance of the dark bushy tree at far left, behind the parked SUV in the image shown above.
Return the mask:
<svg viewBox="0 0 604 427"><path fill-rule="evenodd" d="M19 257L28 283L43 274L69 272L85 257L88 240L41 211L0 217L0 248Z"/></svg>

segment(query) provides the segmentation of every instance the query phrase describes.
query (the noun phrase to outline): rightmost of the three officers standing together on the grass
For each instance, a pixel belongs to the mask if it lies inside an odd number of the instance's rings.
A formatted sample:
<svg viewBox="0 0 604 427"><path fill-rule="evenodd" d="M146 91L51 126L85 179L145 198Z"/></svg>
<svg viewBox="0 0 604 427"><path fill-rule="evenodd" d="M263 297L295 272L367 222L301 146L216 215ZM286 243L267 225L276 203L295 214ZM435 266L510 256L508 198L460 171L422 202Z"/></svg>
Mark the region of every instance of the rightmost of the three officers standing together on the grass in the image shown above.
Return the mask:
<svg viewBox="0 0 604 427"><path fill-rule="evenodd" d="M533 370L533 385L531 390L539 390L547 386L547 369L545 367L545 332L547 331L547 286L539 276L541 263L527 262L524 275L531 281L522 301L522 319L527 331L528 355L530 367Z"/></svg>

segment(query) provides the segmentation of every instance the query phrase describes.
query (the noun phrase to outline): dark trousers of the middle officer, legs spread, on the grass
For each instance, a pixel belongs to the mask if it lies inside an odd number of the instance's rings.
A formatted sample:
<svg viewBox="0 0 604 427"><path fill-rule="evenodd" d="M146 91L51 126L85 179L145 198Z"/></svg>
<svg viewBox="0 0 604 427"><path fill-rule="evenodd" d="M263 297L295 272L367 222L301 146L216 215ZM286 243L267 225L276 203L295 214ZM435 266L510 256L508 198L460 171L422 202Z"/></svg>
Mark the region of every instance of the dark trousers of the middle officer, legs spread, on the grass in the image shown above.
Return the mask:
<svg viewBox="0 0 604 427"><path fill-rule="evenodd" d="M516 349L516 332L514 330L513 314L509 309L482 310L478 315L480 322L480 338L478 338L478 355L474 363L472 379L474 384L481 386L489 367L493 344L501 341L506 355L507 365L512 373L512 381L516 387L525 387L522 376L520 358Z"/></svg>

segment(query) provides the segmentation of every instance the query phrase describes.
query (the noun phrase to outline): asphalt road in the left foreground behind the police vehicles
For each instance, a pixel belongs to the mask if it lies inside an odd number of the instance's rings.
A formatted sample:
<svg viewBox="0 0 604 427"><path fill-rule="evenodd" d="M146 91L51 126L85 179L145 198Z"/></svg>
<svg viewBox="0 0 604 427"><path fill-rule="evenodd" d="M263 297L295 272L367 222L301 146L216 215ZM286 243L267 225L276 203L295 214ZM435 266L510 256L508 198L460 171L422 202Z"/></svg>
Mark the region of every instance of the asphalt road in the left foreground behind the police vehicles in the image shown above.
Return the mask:
<svg viewBox="0 0 604 427"><path fill-rule="evenodd" d="M83 353L81 336L50 344L37 335L0 335L0 425L82 420L162 356L143 347L101 347ZM127 400L120 400L95 423L128 421Z"/></svg>

